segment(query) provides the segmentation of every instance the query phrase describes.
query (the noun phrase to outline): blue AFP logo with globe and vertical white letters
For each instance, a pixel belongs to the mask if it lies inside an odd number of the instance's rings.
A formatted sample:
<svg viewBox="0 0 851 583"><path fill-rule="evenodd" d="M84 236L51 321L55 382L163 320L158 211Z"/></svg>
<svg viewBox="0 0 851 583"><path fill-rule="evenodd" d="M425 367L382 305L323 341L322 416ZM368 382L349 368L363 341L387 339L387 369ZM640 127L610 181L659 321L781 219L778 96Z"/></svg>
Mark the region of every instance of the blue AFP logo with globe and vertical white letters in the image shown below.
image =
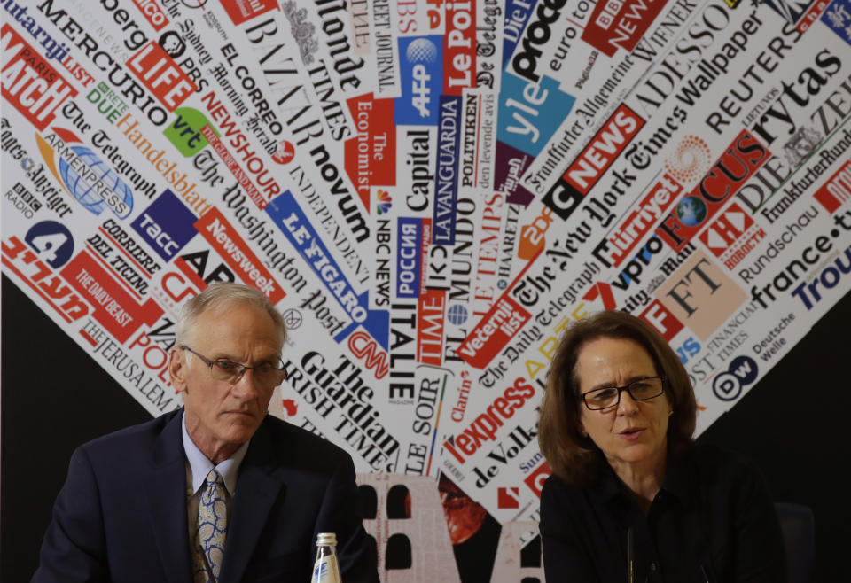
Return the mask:
<svg viewBox="0 0 851 583"><path fill-rule="evenodd" d="M399 39L399 75L402 97L394 103L397 126L433 126L443 84L443 37L411 36Z"/></svg>

